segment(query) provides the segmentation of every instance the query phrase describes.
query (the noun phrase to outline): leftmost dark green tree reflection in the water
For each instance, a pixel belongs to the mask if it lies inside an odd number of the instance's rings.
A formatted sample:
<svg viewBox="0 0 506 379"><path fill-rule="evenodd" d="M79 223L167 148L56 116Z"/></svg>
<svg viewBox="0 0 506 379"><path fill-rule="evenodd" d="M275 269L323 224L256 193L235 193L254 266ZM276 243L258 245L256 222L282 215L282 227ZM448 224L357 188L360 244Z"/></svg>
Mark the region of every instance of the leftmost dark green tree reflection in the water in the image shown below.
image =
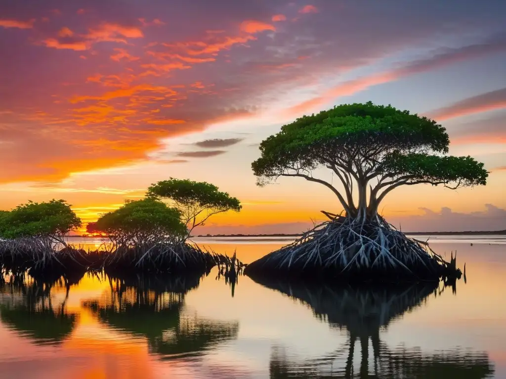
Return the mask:
<svg viewBox="0 0 506 379"><path fill-rule="evenodd" d="M70 335L77 315L67 313L65 304L70 287L79 278L60 277L45 281L26 274L0 278L0 319L12 330L39 344L59 344ZM52 290L65 289L63 301Z"/></svg>

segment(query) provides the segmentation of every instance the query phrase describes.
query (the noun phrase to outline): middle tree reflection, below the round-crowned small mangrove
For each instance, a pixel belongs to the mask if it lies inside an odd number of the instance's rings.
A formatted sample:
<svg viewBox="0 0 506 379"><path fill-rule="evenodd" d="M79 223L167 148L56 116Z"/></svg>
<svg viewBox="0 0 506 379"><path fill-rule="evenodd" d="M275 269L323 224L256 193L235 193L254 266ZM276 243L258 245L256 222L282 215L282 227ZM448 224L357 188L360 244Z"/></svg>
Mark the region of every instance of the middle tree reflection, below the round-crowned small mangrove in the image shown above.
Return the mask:
<svg viewBox="0 0 506 379"><path fill-rule="evenodd" d="M198 355L237 338L238 322L185 315L184 297L201 276L110 278L110 296L84 305L99 319L123 331L143 336L150 351L163 359Z"/></svg>

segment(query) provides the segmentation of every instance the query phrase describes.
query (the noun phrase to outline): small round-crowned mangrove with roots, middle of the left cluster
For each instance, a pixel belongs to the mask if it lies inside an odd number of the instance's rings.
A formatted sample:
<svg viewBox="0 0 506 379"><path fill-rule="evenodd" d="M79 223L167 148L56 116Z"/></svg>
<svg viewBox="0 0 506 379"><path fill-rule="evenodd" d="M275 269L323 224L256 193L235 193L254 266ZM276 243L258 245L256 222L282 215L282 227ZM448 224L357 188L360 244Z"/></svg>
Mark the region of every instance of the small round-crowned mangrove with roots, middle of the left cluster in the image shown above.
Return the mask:
<svg viewBox="0 0 506 379"><path fill-rule="evenodd" d="M111 241L104 268L109 272L187 272L206 270L213 255L185 242L186 225L178 209L153 198L131 201L103 214L89 231Z"/></svg>

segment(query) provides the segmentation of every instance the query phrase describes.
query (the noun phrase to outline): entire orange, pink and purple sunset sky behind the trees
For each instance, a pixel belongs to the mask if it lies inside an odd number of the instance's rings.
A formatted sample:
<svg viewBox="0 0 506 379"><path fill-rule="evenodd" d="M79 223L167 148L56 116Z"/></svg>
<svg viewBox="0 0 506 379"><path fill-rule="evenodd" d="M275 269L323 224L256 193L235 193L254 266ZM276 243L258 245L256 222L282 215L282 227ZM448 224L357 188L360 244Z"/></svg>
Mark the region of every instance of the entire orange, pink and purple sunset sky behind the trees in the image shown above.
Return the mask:
<svg viewBox="0 0 506 379"><path fill-rule="evenodd" d="M506 229L502 0L3 0L0 51L0 209L61 198L86 223L177 177L243 203L196 233L299 232L338 201L299 178L257 187L258 144L370 100L436 119L490 171L397 189L389 221Z"/></svg>

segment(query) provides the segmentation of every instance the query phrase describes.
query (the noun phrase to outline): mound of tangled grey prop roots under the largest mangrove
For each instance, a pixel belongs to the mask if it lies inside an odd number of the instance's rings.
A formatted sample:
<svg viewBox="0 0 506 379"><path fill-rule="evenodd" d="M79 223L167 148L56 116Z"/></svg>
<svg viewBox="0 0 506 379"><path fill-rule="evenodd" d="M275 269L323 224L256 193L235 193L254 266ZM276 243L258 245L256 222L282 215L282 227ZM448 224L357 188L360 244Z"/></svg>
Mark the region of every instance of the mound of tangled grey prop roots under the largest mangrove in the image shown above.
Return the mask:
<svg viewBox="0 0 506 379"><path fill-rule="evenodd" d="M408 238L385 220L324 222L294 243L246 266L250 276L282 275L346 281L416 281L458 276L427 243Z"/></svg>

